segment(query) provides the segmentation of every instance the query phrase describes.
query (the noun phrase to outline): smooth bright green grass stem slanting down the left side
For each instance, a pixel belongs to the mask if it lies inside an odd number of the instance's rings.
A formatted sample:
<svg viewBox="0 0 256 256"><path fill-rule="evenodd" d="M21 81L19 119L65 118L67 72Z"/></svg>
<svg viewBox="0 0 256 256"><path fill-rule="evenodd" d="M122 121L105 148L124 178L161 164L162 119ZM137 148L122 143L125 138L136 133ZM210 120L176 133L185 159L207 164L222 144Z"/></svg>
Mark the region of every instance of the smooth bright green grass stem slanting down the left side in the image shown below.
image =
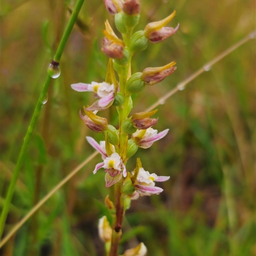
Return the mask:
<svg viewBox="0 0 256 256"><path fill-rule="evenodd" d="M84 3L84 0L77 0L77 2L76 2L76 6L75 6L75 8L74 8L74 10L71 14L71 17L68 21L68 25L67 25L67 27L65 29L65 32L64 32L64 34L61 38L59 47L58 47L56 55L54 57L54 61L57 62L57 63L60 61L60 58L61 58L61 55L63 53L64 47L65 47L65 45L68 41L68 37L70 36L71 30L74 27L74 24L76 22L76 18L78 16L78 13L81 10L81 7L82 7L83 3ZM5 198L4 208L3 208L3 211L2 211L2 214L1 214L1 217L0 217L0 238L2 237L2 234L3 234L3 231L4 231L5 220L7 218L8 212L9 212L10 204L11 204L11 201L12 201L12 196L13 196L13 193L14 193L14 190L15 190L15 185L16 185L16 182L17 182L18 177L19 177L20 168L21 168L21 165L24 161L25 153L27 151L28 144L30 142L32 133L35 129L36 121L37 121L37 118L38 118L38 116L40 114L40 111L41 111L42 102L43 102L43 100L45 98L45 95L48 91L51 80L52 80L52 77L47 75L44 86L43 86L43 89L42 89L42 92L41 92L41 94L39 96L39 99L37 101L34 114L32 116L30 124L28 126L28 131L27 131L26 137L24 139L17 164L16 164L14 172L13 172L13 177L12 177L12 180L11 180L11 184L8 188L7 196Z"/></svg>

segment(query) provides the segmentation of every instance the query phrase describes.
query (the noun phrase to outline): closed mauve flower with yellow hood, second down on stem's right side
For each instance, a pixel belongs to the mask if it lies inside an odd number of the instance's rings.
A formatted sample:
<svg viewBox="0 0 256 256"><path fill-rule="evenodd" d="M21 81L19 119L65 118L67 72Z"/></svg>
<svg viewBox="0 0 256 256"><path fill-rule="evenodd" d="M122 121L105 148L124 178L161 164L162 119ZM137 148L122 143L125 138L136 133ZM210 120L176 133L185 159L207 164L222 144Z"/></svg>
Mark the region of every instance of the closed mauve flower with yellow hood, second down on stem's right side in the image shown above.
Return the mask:
<svg viewBox="0 0 256 256"><path fill-rule="evenodd" d="M163 81L166 76L169 76L174 72L176 69L176 67L174 67L175 64L176 62L172 61L163 67L145 68L142 72L141 79L148 85L157 84Z"/></svg>

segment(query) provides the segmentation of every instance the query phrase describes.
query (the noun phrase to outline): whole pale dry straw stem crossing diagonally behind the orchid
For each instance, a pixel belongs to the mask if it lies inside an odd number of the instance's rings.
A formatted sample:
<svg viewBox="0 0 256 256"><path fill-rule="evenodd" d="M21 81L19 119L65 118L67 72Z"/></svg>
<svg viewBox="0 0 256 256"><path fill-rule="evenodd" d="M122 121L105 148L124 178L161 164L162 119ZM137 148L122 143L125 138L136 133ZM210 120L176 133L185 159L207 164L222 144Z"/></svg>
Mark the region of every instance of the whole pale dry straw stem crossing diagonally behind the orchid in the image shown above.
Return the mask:
<svg viewBox="0 0 256 256"><path fill-rule="evenodd" d="M189 76L184 81L180 82L174 89L172 89L170 92L166 93L163 97L159 98L153 105L151 105L149 108L147 108L144 112L149 112L156 108L157 106L163 104L168 98L170 98L174 93L178 92L180 89L183 89L186 84L191 82L193 79L195 79L197 76L202 74L204 71L209 70L212 65L214 65L216 62L227 56L229 53L236 50L239 46L246 43L250 39L255 38L255 32L251 32L249 35L245 36L241 41L237 42L236 44L232 45L230 48L228 48L226 51L222 52L220 55L218 55L216 58L211 60L210 62L206 63L203 68L200 68L197 70L194 74ZM183 86L183 88L182 88ZM52 189L50 193L48 193L38 204L36 204L30 212L22 219L18 224L16 224L11 231L4 237L4 239L0 243L0 248L11 238L11 236L59 189L61 188L68 180L70 180L85 164L87 164L89 161L92 160L98 153L94 152L91 156L89 156L82 164L78 165L66 178L64 178L55 188Z"/></svg>

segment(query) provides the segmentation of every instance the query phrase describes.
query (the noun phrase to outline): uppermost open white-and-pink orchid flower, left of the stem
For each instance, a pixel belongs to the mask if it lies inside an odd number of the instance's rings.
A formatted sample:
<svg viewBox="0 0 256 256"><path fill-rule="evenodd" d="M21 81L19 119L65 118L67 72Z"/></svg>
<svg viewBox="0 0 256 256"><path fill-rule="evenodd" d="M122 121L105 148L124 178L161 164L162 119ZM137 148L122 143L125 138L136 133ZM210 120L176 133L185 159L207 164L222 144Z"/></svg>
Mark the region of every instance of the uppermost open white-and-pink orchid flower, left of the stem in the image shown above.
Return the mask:
<svg viewBox="0 0 256 256"><path fill-rule="evenodd" d="M106 82L92 84L71 84L71 88L77 92L95 92L96 97L99 100L95 101L92 106L86 108L86 110L104 110L110 107L115 99L115 86Z"/></svg>

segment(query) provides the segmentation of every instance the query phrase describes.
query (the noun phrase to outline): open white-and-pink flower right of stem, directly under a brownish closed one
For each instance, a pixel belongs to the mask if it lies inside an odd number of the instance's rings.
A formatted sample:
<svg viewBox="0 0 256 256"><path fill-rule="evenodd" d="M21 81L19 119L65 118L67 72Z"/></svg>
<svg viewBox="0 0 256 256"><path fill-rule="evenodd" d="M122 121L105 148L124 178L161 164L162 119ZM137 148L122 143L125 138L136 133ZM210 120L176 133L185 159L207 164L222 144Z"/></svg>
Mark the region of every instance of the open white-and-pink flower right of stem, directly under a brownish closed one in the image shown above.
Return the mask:
<svg viewBox="0 0 256 256"><path fill-rule="evenodd" d="M153 128L137 130L132 134L132 139L135 140L140 148L149 148L153 142L164 138L168 131L169 129L166 129L163 132L157 133L157 130L154 130Z"/></svg>

